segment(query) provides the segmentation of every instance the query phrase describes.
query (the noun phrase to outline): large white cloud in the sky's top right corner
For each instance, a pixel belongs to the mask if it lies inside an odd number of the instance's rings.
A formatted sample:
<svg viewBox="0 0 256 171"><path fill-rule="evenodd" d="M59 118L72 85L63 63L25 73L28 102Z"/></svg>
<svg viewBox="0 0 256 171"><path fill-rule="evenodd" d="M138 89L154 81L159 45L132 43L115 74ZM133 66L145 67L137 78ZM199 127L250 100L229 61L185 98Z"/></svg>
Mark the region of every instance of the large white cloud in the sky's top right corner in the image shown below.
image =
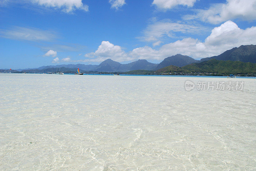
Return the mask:
<svg viewBox="0 0 256 171"><path fill-rule="evenodd" d="M200 19L212 24L237 18L255 20L256 0L227 0L225 4L213 4L207 10L198 10L196 15L184 17L184 19Z"/></svg>

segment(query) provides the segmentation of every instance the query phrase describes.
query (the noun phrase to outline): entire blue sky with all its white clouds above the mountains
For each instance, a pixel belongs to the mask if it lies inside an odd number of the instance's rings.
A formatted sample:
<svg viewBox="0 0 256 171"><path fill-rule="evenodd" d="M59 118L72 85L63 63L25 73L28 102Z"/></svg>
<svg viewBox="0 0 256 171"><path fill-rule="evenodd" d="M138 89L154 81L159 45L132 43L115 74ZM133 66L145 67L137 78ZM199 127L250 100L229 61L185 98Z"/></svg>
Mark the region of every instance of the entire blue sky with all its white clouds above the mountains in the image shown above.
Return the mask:
<svg viewBox="0 0 256 171"><path fill-rule="evenodd" d="M256 0L0 0L0 68L159 63L256 44Z"/></svg>

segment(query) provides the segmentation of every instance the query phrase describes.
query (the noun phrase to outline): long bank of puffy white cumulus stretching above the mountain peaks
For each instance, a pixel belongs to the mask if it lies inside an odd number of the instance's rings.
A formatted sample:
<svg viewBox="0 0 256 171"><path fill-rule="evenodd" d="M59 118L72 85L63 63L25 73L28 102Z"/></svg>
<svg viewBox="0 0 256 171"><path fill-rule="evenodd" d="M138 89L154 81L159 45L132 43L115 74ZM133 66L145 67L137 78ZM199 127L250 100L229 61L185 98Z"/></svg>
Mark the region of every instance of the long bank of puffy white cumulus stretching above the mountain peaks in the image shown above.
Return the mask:
<svg viewBox="0 0 256 171"><path fill-rule="evenodd" d="M212 33L204 41L185 38L164 44L159 49L145 46L124 52L120 46L113 45L108 41L102 41L95 52L85 55L87 59L83 62L102 62L108 58L117 62L136 59L161 61L168 56L176 54L188 55L200 59L220 55L228 49L250 44L256 44L256 27L241 29L236 23L227 21L213 28ZM88 57L91 58L88 59Z"/></svg>

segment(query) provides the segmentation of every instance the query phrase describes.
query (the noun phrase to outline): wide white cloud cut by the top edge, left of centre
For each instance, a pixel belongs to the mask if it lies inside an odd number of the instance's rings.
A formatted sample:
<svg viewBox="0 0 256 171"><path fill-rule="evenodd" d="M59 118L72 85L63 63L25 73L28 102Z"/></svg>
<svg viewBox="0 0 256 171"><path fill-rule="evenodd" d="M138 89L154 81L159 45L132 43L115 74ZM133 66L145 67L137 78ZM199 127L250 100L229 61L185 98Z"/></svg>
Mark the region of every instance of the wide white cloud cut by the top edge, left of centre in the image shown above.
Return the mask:
<svg viewBox="0 0 256 171"><path fill-rule="evenodd" d="M82 0L31 0L32 2L52 8L62 9L64 12L72 12L76 9L89 11L88 5L84 5Z"/></svg>

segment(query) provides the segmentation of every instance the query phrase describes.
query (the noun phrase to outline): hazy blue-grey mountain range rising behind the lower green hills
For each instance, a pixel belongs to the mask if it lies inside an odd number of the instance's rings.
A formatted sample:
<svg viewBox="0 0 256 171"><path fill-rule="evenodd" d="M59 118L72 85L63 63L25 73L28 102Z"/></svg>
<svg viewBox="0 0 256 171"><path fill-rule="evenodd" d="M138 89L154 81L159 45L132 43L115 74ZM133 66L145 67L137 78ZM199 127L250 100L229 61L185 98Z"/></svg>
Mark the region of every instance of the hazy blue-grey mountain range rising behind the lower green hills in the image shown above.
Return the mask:
<svg viewBox="0 0 256 171"><path fill-rule="evenodd" d="M18 69L17 71L23 72L38 72L39 70L45 72L57 71L56 68L63 68L65 71L75 71L79 68L81 71L99 71L99 72L127 72L133 70L150 70L155 71L161 68L173 65L177 67L183 67L191 63L201 63L211 59L223 60L223 61L241 61L256 63L256 45L241 45L238 48L232 48L225 51L218 56L206 57L201 60L193 59L189 56L184 56L177 54L174 56L169 56L165 58L161 63L150 63L145 59L140 59L132 63L121 64L111 59L107 59L100 63L99 65L85 65L85 64L62 64L62 65L49 65L42 66L39 68L28 68L28 69ZM52 69L55 68L55 69ZM55 72L56 72L55 71Z"/></svg>

